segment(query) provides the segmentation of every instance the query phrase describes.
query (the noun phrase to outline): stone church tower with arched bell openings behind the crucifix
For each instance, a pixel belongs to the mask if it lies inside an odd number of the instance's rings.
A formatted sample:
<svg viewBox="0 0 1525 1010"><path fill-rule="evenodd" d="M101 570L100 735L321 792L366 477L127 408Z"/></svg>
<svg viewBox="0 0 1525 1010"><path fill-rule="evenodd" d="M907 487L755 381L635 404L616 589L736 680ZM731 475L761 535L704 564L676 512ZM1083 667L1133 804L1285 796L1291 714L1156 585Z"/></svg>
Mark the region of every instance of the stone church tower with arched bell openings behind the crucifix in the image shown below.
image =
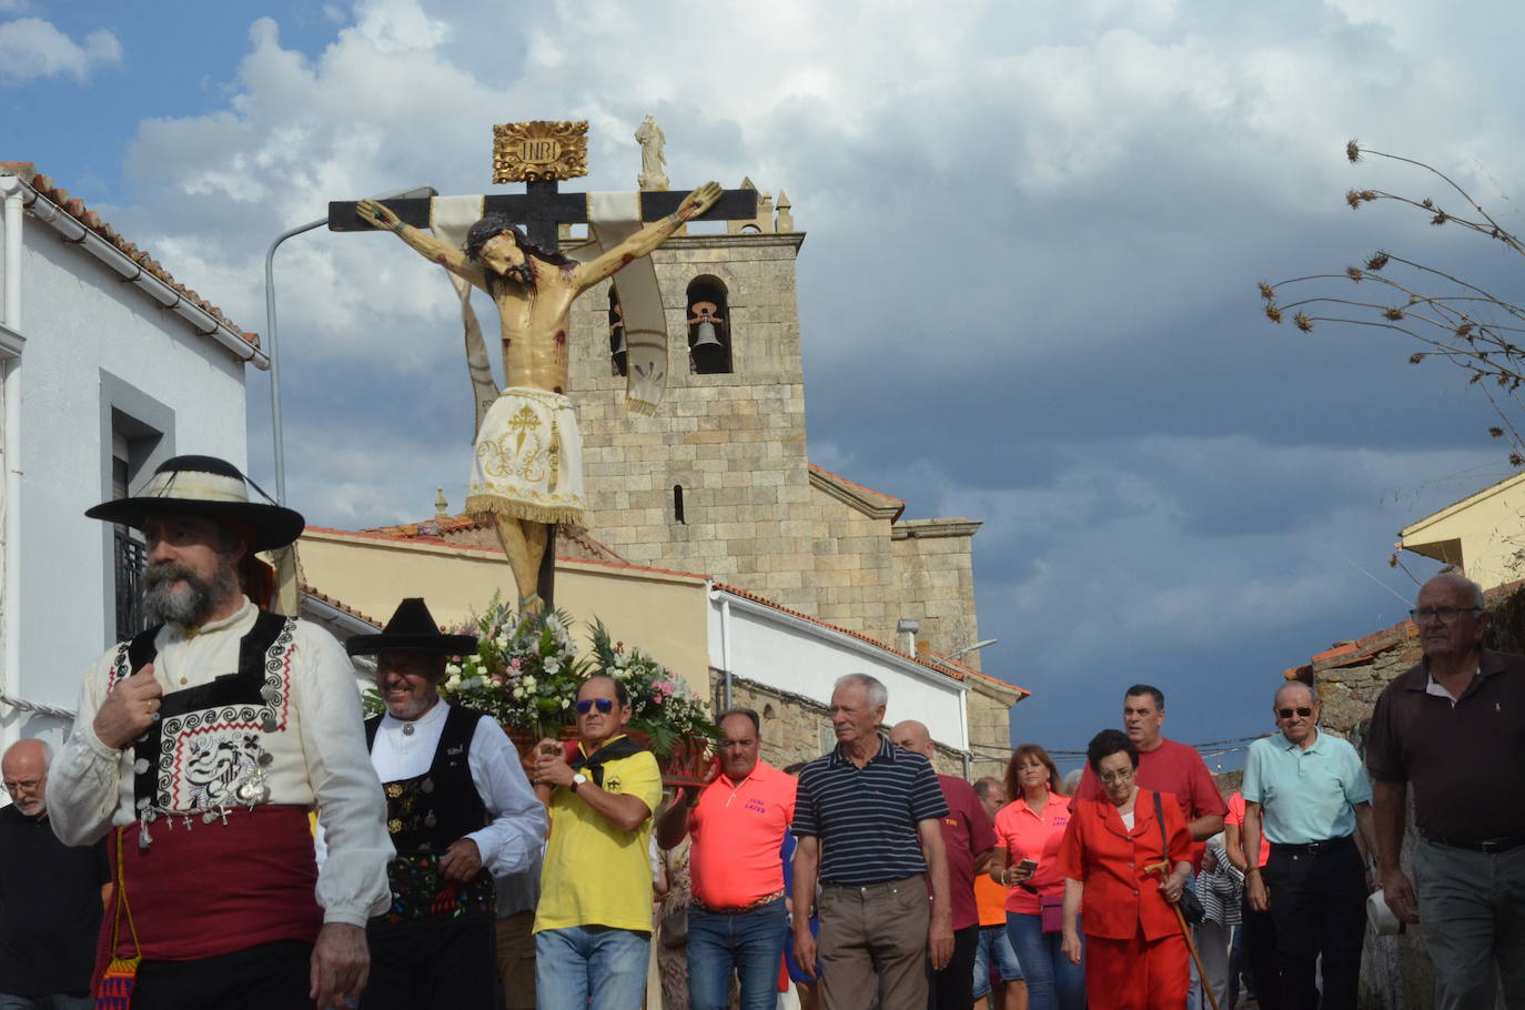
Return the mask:
<svg viewBox="0 0 1525 1010"><path fill-rule="evenodd" d="M651 255L669 343L654 417L625 409L608 282L573 305L567 392L583 426L589 532L637 565L706 572L886 645L904 648L901 621L942 653L973 644L979 523L901 520L903 500L808 459L795 284L804 241L788 198L775 209L764 194L756 220L677 235ZM962 661L978 668L979 655Z"/></svg>

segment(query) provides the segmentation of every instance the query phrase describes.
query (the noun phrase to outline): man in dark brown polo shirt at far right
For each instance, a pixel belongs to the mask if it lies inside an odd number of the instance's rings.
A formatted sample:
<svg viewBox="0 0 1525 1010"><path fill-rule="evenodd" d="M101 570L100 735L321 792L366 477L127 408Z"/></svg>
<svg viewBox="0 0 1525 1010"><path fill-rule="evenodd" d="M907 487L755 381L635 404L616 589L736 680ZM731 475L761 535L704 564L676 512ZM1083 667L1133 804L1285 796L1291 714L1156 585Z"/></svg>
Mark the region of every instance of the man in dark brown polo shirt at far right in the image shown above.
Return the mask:
<svg viewBox="0 0 1525 1010"><path fill-rule="evenodd" d="M1424 583L1423 659L1382 691L1366 737L1377 868L1392 914L1424 922L1435 1005L1525 1008L1525 656L1482 647L1482 589ZM1414 786L1411 880L1400 853ZM1417 893L1415 893L1417 891Z"/></svg>

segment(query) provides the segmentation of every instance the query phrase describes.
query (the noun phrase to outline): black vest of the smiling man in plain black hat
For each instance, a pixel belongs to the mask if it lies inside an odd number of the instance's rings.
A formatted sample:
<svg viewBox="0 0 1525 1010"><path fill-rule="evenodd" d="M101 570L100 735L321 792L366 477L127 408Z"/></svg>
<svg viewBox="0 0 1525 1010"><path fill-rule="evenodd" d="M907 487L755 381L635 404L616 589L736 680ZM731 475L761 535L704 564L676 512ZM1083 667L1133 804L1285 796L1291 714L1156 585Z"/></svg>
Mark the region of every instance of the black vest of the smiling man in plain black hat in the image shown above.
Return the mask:
<svg viewBox="0 0 1525 1010"><path fill-rule="evenodd" d="M386 830L396 857L387 864L392 906L372 918L371 928L496 914L496 888L485 868L467 883L454 883L439 874L439 857L445 850L490 822L468 763L479 722L482 712L451 705L429 770L381 783ZM380 728L380 716L366 720L368 749L375 748Z"/></svg>

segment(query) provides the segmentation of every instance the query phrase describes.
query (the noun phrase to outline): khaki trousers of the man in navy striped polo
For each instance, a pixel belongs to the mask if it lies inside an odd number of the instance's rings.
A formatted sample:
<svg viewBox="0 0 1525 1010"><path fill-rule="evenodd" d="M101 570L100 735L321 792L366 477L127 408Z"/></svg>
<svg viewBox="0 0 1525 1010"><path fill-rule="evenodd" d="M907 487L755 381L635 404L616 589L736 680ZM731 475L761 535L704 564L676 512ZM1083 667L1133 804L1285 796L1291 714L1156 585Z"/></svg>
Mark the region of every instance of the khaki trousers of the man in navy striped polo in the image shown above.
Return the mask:
<svg viewBox="0 0 1525 1010"><path fill-rule="evenodd" d="M820 909L820 995L825 1010L926 1010L927 879L846 886L828 883Z"/></svg>

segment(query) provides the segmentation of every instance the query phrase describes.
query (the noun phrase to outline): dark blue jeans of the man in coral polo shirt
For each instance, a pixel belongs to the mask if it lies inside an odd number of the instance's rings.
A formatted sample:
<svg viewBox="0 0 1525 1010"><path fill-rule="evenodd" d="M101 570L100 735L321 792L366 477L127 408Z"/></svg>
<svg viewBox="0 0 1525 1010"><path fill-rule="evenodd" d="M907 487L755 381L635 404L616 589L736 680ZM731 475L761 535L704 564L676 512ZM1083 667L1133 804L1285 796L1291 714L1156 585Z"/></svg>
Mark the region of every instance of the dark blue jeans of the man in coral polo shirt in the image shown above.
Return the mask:
<svg viewBox="0 0 1525 1010"><path fill-rule="evenodd" d="M692 1010L726 1010L732 970L741 984L741 1010L773 1010L787 935L784 899L732 915L689 905L688 1001Z"/></svg>

